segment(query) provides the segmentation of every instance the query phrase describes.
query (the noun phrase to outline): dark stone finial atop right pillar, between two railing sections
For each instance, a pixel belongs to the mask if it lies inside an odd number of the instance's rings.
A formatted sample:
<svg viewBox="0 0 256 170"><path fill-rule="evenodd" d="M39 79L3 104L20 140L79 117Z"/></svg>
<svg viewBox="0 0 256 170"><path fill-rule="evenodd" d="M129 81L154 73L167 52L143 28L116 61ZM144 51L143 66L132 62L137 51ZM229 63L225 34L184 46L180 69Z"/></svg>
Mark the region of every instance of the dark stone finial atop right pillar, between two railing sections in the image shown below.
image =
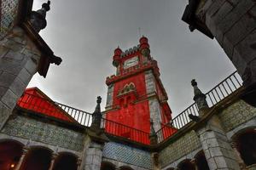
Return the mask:
<svg viewBox="0 0 256 170"><path fill-rule="evenodd" d="M207 104L207 96L206 94L203 94L201 90L197 87L197 82L195 82L195 79L191 81L191 85L194 88L194 100L199 110L207 109L209 108Z"/></svg>

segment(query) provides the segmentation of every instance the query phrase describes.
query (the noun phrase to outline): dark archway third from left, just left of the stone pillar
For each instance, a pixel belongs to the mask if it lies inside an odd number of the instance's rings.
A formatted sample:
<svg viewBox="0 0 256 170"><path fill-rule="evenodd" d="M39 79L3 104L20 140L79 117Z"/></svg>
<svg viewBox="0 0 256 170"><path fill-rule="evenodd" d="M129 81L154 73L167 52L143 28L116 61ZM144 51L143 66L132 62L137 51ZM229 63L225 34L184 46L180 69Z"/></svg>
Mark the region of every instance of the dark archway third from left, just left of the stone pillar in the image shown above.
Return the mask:
<svg viewBox="0 0 256 170"><path fill-rule="evenodd" d="M62 152L56 157L53 170L77 170L77 162L77 156L74 156L71 153Z"/></svg>

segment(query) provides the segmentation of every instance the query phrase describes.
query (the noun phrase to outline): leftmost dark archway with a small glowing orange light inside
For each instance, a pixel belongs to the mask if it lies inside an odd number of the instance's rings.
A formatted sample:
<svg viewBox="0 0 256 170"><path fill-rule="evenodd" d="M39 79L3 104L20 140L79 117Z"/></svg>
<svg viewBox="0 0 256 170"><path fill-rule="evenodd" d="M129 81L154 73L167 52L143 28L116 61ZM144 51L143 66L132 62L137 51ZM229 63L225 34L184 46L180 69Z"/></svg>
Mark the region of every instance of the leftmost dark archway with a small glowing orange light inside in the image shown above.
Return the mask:
<svg viewBox="0 0 256 170"><path fill-rule="evenodd" d="M13 170L22 155L23 144L15 140L0 142L0 169Z"/></svg>

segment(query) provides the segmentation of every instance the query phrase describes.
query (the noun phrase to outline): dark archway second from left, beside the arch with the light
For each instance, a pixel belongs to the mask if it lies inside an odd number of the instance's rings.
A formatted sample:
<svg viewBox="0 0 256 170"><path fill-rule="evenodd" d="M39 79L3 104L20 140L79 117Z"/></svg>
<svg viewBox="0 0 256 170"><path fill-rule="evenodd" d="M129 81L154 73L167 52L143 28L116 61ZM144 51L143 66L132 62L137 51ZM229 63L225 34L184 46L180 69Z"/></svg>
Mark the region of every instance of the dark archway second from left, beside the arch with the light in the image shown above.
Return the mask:
<svg viewBox="0 0 256 170"><path fill-rule="evenodd" d="M51 161L51 150L35 147L28 151L22 170L48 170Z"/></svg>

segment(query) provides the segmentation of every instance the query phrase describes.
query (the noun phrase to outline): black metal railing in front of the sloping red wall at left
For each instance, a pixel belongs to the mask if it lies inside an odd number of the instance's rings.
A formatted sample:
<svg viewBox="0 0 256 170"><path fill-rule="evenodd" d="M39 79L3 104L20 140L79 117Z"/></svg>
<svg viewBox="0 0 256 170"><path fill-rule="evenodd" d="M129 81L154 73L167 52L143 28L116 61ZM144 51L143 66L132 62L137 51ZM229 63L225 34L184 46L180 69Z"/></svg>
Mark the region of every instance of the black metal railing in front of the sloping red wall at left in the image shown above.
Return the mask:
<svg viewBox="0 0 256 170"><path fill-rule="evenodd" d="M35 94L23 94L18 100L17 105L35 113L42 113L62 121L76 122L85 127L90 127L92 120L91 113L54 102L51 99L45 99Z"/></svg>

